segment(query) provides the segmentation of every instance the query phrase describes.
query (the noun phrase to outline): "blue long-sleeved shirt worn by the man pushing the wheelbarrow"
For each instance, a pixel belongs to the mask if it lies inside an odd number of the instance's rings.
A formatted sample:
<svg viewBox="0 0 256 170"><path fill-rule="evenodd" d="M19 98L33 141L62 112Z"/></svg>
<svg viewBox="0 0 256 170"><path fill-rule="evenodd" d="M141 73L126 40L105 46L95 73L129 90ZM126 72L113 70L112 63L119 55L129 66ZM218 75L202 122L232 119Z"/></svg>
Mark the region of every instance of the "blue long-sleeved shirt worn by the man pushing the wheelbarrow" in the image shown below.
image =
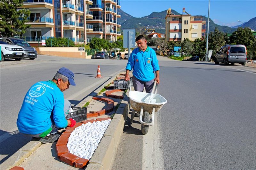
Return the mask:
<svg viewBox="0 0 256 170"><path fill-rule="evenodd" d="M156 52L149 46L143 52L135 48L128 60L126 70L133 69L133 76L141 81L150 81L155 78L154 71L160 70Z"/></svg>

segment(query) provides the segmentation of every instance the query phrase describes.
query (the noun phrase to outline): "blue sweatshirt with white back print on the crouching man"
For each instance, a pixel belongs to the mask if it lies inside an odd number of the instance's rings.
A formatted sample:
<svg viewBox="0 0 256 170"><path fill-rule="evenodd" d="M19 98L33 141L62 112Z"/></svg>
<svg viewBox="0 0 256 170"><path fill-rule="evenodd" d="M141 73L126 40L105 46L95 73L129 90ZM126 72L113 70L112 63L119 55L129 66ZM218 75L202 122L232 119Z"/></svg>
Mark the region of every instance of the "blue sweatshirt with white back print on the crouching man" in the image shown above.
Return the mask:
<svg viewBox="0 0 256 170"><path fill-rule="evenodd" d="M43 133L51 128L50 117L57 127L67 127L63 93L53 81L40 81L28 90L18 115L17 127L24 134Z"/></svg>

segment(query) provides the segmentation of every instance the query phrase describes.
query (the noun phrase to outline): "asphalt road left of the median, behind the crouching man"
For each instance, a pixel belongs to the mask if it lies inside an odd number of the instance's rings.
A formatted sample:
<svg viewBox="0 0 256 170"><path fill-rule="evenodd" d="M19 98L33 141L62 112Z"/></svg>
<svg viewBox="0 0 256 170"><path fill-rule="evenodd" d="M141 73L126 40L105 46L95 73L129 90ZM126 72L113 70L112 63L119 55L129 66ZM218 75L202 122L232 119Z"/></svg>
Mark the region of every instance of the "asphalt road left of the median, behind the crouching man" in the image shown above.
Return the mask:
<svg viewBox="0 0 256 170"><path fill-rule="evenodd" d="M5 60L0 63L0 164L24 146L30 137L19 133L17 116L28 89L37 81L52 80L60 67L75 74L76 86L70 86L64 97L72 105L80 103L87 95L124 71L127 60L77 59L39 55L35 60ZM103 78L95 78L97 68Z"/></svg>

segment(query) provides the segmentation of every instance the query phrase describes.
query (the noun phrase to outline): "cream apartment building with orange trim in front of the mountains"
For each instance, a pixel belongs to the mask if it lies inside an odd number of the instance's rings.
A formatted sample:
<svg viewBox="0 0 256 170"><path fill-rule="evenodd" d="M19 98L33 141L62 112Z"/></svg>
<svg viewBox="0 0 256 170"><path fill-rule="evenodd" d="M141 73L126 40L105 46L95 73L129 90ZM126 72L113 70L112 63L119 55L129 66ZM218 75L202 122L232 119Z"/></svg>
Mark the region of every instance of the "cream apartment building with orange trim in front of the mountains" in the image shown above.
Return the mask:
<svg viewBox="0 0 256 170"><path fill-rule="evenodd" d="M206 22L202 16L191 16L183 8L182 15L175 15L171 9L165 17L165 40L180 41L188 38L191 41L205 37Z"/></svg>

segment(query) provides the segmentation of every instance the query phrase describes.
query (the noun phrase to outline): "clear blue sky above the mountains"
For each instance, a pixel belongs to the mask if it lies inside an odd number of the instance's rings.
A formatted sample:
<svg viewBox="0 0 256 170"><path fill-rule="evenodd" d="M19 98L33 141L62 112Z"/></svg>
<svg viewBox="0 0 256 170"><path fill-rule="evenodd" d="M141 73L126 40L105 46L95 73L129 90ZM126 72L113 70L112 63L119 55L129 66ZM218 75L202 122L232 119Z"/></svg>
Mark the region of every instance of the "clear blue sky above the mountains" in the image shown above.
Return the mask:
<svg viewBox="0 0 256 170"><path fill-rule="evenodd" d="M182 14L208 17L209 0L121 0L121 10L141 18L171 8ZM122 16L121 16L122 17ZM256 17L256 0L210 0L210 18L218 25L236 26Z"/></svg>

